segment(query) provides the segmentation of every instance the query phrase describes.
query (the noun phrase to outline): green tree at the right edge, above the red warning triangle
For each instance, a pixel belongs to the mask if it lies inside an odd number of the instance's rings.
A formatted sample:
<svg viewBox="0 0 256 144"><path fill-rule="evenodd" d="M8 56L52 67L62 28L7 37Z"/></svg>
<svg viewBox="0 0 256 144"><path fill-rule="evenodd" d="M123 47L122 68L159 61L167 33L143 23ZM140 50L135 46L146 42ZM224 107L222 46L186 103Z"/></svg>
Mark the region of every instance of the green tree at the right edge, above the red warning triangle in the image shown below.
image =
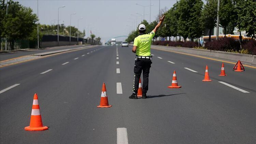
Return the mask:
<svg viewBox="0 0 256 144"><path fill-rule="evenodd" d="M255 0L234 0L237 10L237 28L245 30L248 37L256 38L256 1ZM242 38L240 37L240 41Z"/></svg>

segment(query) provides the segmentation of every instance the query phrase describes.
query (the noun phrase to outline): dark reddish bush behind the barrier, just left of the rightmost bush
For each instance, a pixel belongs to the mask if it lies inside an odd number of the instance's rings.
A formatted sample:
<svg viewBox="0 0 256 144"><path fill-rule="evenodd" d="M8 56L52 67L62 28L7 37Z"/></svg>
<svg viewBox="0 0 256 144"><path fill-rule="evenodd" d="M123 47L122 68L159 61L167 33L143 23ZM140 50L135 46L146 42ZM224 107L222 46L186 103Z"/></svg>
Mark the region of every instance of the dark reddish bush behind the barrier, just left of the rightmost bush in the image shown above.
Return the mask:
<svg viewBox="0 0 256 144"><path fill-rule="evenodd" d="M206 42L205 47L207 49L214 50L214 51L225 51L225 52L227 52L228 50L239 51L240 43L239 41L236 41L233 38L221 38L219 40Z"/></svg>

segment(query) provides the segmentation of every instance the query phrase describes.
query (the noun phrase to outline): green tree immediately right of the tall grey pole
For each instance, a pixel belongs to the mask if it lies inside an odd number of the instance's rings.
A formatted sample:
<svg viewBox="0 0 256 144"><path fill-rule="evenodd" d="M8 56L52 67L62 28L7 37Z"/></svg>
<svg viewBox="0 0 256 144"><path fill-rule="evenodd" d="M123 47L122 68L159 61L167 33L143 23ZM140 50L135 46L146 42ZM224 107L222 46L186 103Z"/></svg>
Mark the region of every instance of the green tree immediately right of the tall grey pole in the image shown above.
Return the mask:
<svg viewBox="0 0 256 144"><path fill-rule="evenodd" d="M233 32L237 19L237 12L232 0L222 0L219 6L219 24L224 29L224 34Z"/></svg>

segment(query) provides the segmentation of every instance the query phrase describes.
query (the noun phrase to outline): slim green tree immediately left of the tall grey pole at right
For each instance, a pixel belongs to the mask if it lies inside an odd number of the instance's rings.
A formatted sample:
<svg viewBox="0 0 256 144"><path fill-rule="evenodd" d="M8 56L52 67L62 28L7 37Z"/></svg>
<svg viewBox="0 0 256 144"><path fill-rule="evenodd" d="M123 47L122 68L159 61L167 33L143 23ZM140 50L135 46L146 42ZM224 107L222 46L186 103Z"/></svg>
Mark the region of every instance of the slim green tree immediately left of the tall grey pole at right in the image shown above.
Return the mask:
<svg viewBox="0 0 256 144"><path fill-rule="evenodd" d="M209 41L217 22L217 0L207 0L202 11L202 22L204 29L209 29Z"/></svg>

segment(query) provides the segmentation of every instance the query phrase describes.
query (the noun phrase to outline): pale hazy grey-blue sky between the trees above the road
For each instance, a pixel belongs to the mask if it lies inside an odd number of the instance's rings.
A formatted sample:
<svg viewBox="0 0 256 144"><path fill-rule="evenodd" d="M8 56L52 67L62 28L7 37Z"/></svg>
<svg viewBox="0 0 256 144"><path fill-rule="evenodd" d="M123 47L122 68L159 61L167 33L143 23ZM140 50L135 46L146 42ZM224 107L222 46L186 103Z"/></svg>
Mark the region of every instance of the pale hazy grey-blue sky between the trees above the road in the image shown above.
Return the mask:
<svg viewBox="0 0 256 144"><path fill-rule="evenodd" d="M15 0L20 4L30 7L34 13L37 13L37 0ZM150 0L39 0L39 23L57 24L58 8L65 5L65 8L59 9L59 24L70 25L70 14L76 13L71 17L71 25L77 28L79 20L79 30L86 30L89 26L96 37L101 37L107 41L120 35L128 35L131 29L135 29L136 16L137 25L143 19L136 13L143 14L143 7L136 5L150 5ZM170 9L176 0L160 0L160 9L167 7ZM151 21L156 19L159 13L159 0L151 0ZM147 15L148 14L148 15ZM150 7L145 7L145 19L150 20ZM132 20L134 19L134 20ZM126 38L119 38L117 41L123 41Z"/></svg>

